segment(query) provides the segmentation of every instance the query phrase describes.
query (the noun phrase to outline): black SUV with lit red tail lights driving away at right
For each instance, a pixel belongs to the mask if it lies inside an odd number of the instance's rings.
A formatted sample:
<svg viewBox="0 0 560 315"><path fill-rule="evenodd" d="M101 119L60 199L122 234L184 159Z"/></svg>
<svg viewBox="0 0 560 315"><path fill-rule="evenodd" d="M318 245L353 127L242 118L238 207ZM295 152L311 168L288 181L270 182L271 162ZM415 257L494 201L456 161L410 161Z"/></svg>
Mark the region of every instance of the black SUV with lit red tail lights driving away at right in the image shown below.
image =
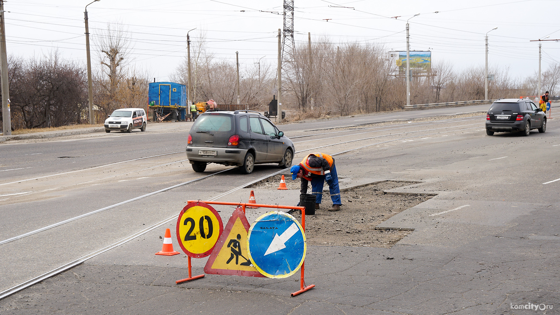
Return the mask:
<svg viewBox="0 0 560 315"><path fill-rule="evenodd" d="M492 103L486 115L486 134L522 131L529 135L531 129L539 133L547 130L547 116L535 103L526 98L499 98Z"/></svg>

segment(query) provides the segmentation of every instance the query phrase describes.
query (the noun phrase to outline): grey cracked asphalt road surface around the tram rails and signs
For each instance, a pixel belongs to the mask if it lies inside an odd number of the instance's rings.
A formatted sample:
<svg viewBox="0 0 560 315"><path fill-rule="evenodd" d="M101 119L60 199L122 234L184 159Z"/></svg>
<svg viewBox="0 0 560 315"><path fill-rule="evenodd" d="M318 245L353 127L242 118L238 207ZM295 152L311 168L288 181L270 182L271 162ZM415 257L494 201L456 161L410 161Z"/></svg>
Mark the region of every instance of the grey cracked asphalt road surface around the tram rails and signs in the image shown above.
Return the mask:
<svg viewBox="0 0 560 315"><path fill-rule="evenodd" d="M164 229L174 229L175 220L170 220L0 300L0 314L524 314L529 311L514 306L528 303L553 305L536 312L558 313L560 181L550 182L560 177L557 120L549 120L546 133L533 130L529 137L489 137L484 117L402 121L486 109L455 107L280 126L288 137L297 137L335 131L305 130L398 120L381 130L297 138L296 150L325 146L313 151L335 154L369 145L335 157L342 186L418 181L392 192L437 194L380 224L415 229L393 248L310 246L306 283L316 288L309 292L290 298L299 288L297 276L207 275L175 285L186 278L186 258L153 255L161 249ZM1 144L0 240L200 177L188 161L180 162L182 152L129 161L183 151L190 124ZM360 134L366 131L371 133ZM333 145L348 140L356 141ZM310 152L296 154L295 160ZM117 162L123 163L104 166ZM205 173L225 169L214 164ZM215 198L276 171L269 164L247 176L228 171L4 243L0 290L170 218L186 200ZM288 184L296 189L258 191L258 201L296 203L297 185ZM247 199L248 191L240 189L220 200ZM224 220L232 211L217 209ZM248 213L249 222L260 213ZM340 215L352 218L344 206ZM174 246L179 250L176 239ZM205 263L193 259L193 272L202 272Z"/></svg>

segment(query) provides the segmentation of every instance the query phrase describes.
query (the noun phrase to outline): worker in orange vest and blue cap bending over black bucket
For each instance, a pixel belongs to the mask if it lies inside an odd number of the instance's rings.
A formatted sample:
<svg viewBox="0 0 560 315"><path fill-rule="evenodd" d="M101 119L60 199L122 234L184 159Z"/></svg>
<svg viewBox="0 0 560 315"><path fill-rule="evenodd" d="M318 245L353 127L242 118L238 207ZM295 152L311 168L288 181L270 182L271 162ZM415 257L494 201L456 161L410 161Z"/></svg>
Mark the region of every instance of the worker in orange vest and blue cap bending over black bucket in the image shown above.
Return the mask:
<svg viewBox="0 0 560 315"><path fill-rule="evenodd" d="M338 187L337 168L334 166L334 158L325 153L311 153L301 160L298 165L290 169L292 180L301 178L301 194L307 194L307 186L311 182L311 194L316 196L315 209L319 209L323 198L323 185L329 184L330 199L333 206L329 211L340 210L340 189Z"/></svg>

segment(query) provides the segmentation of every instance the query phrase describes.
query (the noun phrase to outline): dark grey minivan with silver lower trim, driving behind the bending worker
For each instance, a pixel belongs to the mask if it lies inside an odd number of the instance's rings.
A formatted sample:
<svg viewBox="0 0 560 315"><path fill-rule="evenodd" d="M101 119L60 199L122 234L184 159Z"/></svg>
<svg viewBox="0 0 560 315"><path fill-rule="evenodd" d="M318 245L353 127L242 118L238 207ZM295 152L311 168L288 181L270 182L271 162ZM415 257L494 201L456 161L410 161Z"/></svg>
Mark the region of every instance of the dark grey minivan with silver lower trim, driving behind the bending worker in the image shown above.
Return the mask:
<svg viewBox="0 0 560 315"><path fill-rule="evenodd" d="M288 168L294 152L292 140L251 110L207 110L194 122L186 146L195 172L204 172L208 163L240 166L245 174L262 163Z"/></svg>

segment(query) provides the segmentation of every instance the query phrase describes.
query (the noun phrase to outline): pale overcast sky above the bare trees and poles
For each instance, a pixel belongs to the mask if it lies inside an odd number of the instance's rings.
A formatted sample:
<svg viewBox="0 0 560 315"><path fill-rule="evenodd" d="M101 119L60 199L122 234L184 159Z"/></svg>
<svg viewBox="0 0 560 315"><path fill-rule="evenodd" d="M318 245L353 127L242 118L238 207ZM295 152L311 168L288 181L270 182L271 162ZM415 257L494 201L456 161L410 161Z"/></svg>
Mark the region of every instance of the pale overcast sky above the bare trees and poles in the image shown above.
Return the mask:
<svg viewBox="0 0 560 315"><path fill-rule="evenodd" d="M8 54L39 57L58 50L65 59L85 65L84 7L81 0L11 0L6 10ZM101 0L88 6L92 36L119 23L130 36L130 57L156 81L169 76L186 55L186 32L192 45L204 34L208 52L240 67L274 64L277 31L282 28L281 0ZM484 35L489 32L489 67L509 67L525 77L538 70L538 43L560 39L560 1L295 1L295 40L371 43L384 50L431 50L432 67L448 62L460 70L484 67ZM347 8L344 8L347 7ZM269 11L269 12L265 12ZM436 13L437 12L437 13ZM416 13L419 16L411 18ZM396 18L393 18L396 17ZM326 21L325 19L329 19ZM542 70L560 61L560 43L543 41ZM101 67L92 46L92 66Z"/></svg>

